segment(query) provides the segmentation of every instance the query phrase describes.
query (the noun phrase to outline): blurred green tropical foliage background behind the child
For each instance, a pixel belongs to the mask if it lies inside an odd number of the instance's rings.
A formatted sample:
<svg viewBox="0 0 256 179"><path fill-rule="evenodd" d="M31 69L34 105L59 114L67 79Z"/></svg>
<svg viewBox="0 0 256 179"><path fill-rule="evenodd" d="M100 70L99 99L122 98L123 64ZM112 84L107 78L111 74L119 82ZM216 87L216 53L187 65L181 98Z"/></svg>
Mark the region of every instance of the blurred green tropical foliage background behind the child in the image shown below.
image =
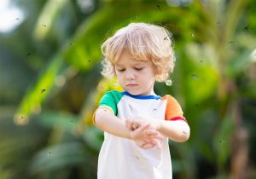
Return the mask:
<svg viewBox="0 0 256 179"><path fill-rule="evenodd" d="M256 1L1 0L0 179L96 178L91 117L121 90L100 74L100 45L141 21L172 32L172 85L155 92L191 127L170 141L173 178L256 178Z"/></svg>

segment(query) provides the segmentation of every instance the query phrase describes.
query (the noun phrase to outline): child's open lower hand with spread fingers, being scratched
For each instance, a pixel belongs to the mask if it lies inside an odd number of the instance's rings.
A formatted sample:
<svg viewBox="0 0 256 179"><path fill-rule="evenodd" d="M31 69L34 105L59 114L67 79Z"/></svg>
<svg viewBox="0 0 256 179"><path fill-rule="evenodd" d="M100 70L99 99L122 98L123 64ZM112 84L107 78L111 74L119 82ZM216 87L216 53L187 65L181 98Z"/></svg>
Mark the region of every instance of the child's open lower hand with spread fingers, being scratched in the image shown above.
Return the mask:
<svg viewBox="0 0 256 179"><path fill-rule="evenodd" d="M157 130L150 129L150 124L145 124L136 130L131 131L131 139L133 139L138 147L148 149L152 147L161 147L160 140L164 137Z"/></svg>

